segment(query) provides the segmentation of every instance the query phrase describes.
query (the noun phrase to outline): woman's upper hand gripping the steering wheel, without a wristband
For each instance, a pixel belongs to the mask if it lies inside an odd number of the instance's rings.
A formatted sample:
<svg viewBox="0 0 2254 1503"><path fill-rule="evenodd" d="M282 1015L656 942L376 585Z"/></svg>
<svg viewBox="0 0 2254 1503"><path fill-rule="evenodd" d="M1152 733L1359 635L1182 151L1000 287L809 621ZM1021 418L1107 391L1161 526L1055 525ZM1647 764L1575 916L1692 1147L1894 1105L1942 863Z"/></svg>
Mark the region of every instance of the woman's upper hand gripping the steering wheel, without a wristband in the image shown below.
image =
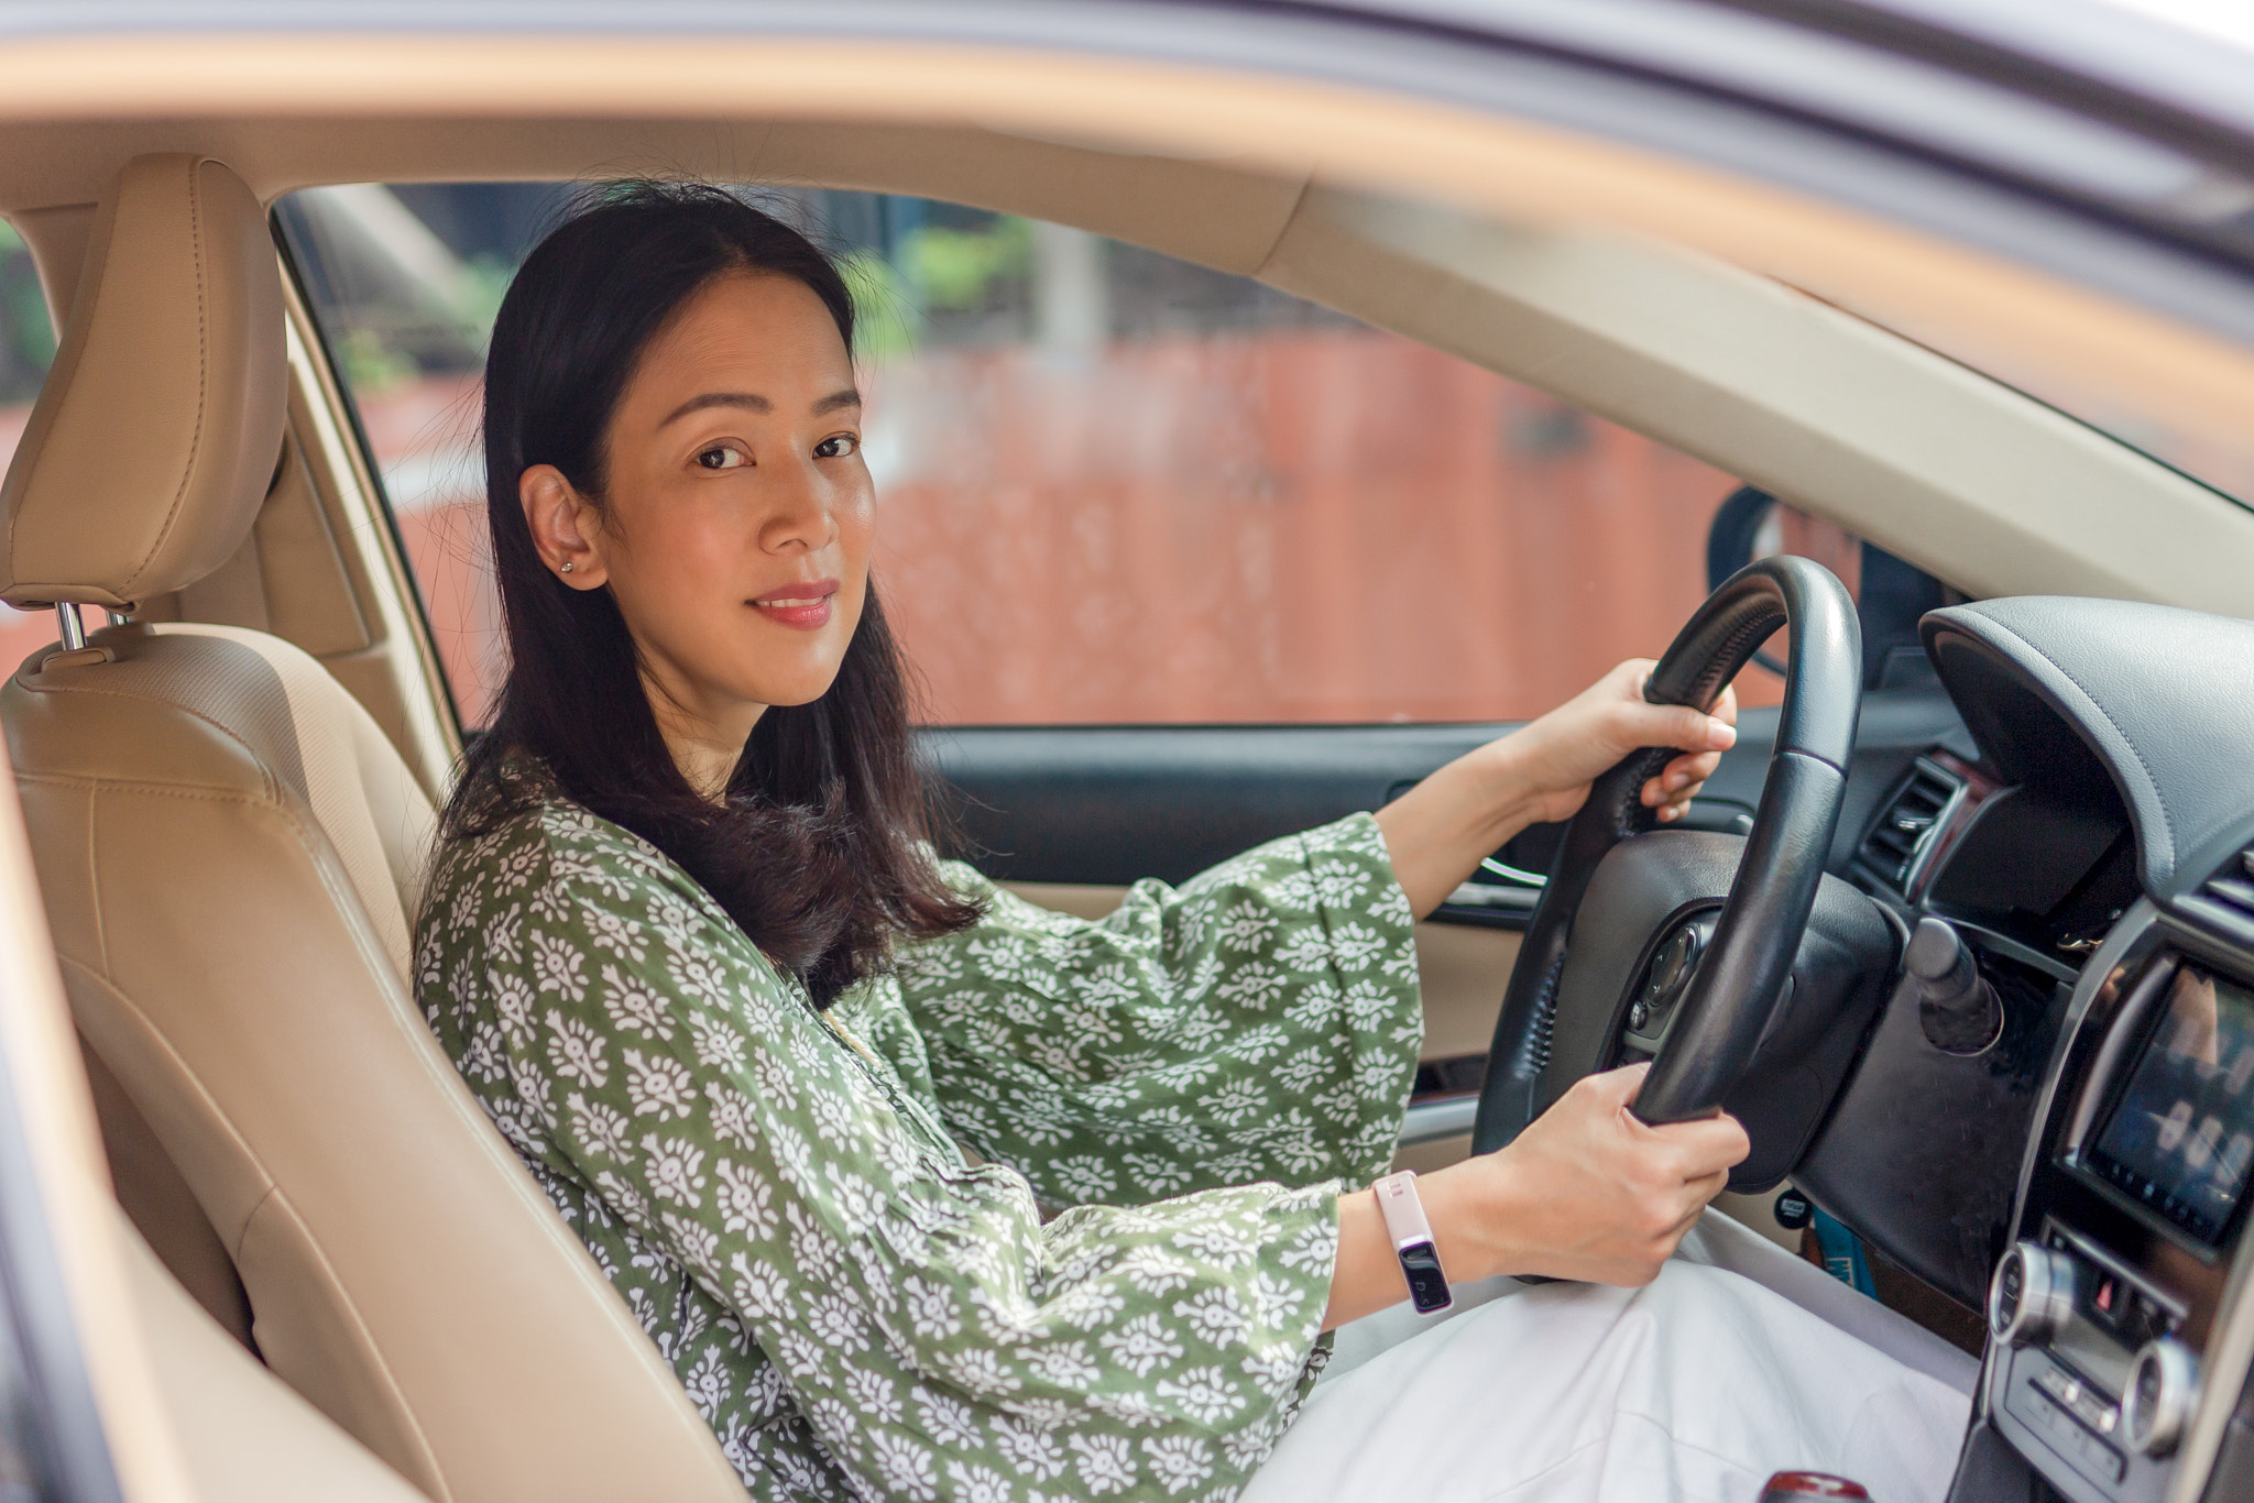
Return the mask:
<svg viewBox="0 0 2254 1503"><path fill-rule="evenodd" d="M1533 800L1533 822L1569 820L1587 802L1589 784L1639 746L1672 746L1684 755L1643 784L1643 807L1659 822L1684 816L1722 753L1738 741L1738 692L1722 690L1713 714L1690 705L1652 705L1643 681L1657 667L1630 658L1594 685L1488 750L1508 762L1521 795Z"/></svg>

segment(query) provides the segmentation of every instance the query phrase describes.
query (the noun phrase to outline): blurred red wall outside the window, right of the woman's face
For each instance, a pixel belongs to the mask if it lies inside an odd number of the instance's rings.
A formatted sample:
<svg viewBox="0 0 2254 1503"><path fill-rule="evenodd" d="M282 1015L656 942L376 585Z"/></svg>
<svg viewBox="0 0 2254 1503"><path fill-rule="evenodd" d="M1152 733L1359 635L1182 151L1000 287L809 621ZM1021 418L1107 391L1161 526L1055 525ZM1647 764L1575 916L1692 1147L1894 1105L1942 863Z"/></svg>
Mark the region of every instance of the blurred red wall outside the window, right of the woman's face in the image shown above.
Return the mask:
<svg viewBox="0 0 2254 1503"><path fill-rule="evenodd" d="M879 584L953 723L1539 714L1666 647L1733 489L1361 331L926 356L875 421L902 397Z"/></svg>

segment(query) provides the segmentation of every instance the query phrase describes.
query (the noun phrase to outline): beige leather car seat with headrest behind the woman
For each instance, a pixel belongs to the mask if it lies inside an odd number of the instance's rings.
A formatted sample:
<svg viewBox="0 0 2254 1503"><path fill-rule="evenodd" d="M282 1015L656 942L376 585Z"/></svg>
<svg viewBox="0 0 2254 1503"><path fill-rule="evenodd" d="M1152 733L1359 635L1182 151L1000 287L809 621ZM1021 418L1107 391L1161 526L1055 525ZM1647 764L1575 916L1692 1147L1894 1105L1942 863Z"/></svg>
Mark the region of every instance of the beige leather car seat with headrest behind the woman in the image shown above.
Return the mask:
<svg viewBox="0 0 2254 1503"><path fill-rule="evenodd" d="M284 424L266 216L140 158L0 491L0 599L128 608L248 534ZM79 1030L248 1291L270 1368L433 1498L712 1498L735 1471L455 1079L408 933L433 818L286 642L113 626L0 692Z"/></svg>

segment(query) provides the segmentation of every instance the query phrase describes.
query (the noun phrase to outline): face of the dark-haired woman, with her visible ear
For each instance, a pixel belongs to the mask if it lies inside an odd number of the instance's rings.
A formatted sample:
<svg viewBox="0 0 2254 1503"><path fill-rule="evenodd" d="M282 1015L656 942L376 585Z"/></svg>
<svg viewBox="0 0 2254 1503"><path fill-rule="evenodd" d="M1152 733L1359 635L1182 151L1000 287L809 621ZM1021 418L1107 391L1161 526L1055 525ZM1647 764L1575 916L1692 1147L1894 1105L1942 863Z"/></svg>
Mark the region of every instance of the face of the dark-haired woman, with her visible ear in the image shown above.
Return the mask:
<svg viewBox="0 0 2254 1503"><path fill-rule="evenodd" d="M699 291L642 352L606 469L600 509L527 469L525 518L559 579L615 595L660 723L742 748L766 705L829 690L877 516L852 358L811 288L739 273Z"/></svg>

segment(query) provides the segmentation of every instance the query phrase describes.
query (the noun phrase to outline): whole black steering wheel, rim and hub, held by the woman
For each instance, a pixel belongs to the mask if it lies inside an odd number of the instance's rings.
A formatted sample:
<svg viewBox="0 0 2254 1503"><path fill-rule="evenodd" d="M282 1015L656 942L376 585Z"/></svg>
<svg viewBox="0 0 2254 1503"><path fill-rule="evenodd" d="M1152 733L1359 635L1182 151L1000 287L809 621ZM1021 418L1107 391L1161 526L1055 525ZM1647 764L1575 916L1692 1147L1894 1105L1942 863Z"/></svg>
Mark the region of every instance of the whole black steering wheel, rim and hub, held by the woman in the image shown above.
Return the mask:
<svg viewBox="0 0 2254 1503"><path fill-rule="evenodd" d="M1654 1124L1713 1115L1754 1064L1792 978L1846 795L1862 710L1855 602L1821 563L1783 554L1747 563L1690 615L1643 687L1654 705L1711 710L1778 626L1792 626L1785 705L1742 854L1731 836L1639 838L1657 825L1641 791L1679 755L1668 748L1630 753L1591 784L1567 827L1494 1021L1474 1154L1517 1138L1625 1048L1652 1052L1634 1111ZM1636 861L1607 861L1630 850ZM1729 856L1736 872L1715 919L1711 897L1695 895L1720 886L1715 868L1727 872ZM1596 881L1600 868L1609 881ZM1596 935L1591 953L1571 953L1576 933ZM1573 985L1578 967L1591 971L1589 985ZM1623 989L1623 976L1636 980Z"/></svg>

